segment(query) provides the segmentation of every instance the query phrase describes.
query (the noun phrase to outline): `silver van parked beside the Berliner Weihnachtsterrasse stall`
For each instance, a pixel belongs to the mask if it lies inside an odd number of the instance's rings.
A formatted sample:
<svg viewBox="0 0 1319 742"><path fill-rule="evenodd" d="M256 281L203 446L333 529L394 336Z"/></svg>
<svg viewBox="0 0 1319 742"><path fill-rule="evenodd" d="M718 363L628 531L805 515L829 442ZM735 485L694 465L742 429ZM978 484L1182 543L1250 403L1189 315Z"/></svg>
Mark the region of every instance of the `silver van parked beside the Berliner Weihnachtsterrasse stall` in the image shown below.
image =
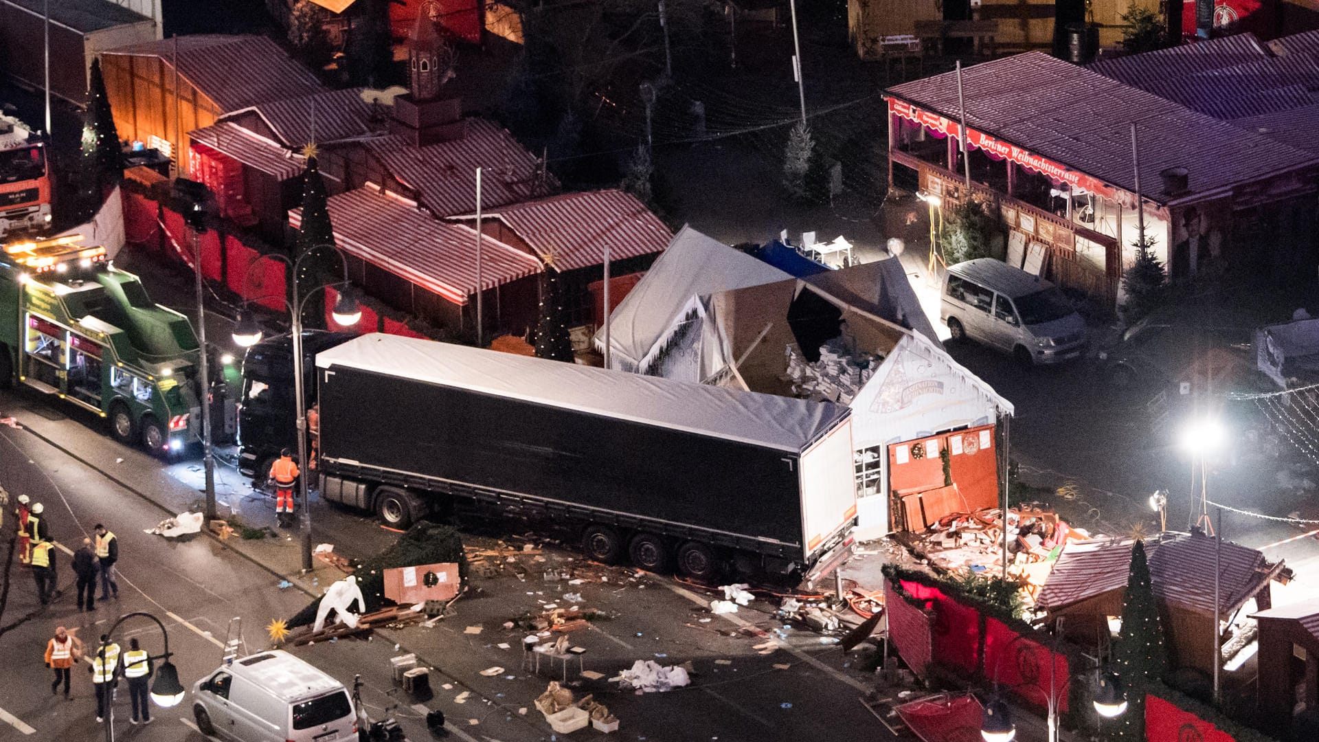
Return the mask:
<svg viewBox="0 0 1319 742"><path fill-rule="evenodd" d="M950 265L939 318L952 339L971 338L1022 363L1059 363L1086 347L1086 321L1058 287L993 257Z"/></svg>

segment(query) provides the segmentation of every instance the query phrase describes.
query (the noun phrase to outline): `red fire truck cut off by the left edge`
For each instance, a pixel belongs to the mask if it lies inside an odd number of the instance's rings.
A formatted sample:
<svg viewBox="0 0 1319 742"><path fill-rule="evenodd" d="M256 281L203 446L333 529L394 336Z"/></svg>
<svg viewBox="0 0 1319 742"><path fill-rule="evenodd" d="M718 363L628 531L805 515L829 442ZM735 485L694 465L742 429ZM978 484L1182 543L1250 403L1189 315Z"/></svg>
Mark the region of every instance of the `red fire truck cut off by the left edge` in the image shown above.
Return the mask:
<svg viewBox="0 0 1319 742"><path fill-rule="evenodd" d="M0 238L49 226L46 143L18 119L0 114Z"/></svg>

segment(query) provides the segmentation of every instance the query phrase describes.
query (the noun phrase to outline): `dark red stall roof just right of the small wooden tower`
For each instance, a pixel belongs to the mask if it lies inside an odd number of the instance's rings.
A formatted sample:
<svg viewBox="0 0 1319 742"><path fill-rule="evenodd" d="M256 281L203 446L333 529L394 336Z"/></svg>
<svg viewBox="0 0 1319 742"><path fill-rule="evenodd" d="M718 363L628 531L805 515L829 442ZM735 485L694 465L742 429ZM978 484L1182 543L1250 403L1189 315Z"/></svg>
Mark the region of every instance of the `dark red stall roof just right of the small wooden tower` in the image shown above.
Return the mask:
<svg viewBox="0 0 1319 742"><path fill-rule="evenodd" d="M476 211L476 168L481 173L481 206L549 195L554 176L537 177L537 160L513 135L485 119L464 119L460 139L417 147L402 136L367 144L389 174L421 195L437 217ZM539 181L539 182L538 182Z"/></svg>

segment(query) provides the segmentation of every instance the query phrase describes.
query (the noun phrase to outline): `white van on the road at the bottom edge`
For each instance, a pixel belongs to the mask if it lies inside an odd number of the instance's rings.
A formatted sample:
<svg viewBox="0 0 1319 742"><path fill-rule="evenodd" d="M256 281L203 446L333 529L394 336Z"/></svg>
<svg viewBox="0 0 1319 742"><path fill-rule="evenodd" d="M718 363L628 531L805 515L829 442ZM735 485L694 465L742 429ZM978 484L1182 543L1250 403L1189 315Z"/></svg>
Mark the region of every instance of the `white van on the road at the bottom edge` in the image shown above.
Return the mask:
<svg viewBox="0 0 1319 742"><path fill-rule="evenodd" d="M235 660L193 685L203 734L236 742L357 739L357 717L342 683L284 651Z"/></svg>

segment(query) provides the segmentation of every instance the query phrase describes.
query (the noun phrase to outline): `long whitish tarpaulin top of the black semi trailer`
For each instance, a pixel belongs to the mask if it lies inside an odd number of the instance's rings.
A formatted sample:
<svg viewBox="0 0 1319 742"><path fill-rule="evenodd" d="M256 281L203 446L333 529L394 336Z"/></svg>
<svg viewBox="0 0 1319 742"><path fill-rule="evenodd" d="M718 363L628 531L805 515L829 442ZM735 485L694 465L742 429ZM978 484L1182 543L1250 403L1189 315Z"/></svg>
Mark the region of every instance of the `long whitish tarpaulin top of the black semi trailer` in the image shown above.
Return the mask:
<svg viewBox="0 0 1319 742"><path fill-rule="evenodd" d="M845 407L832 403L685 384L379 333L317 354L317 367L335 366L794 453L805 450L849 413Z"/></svg>

